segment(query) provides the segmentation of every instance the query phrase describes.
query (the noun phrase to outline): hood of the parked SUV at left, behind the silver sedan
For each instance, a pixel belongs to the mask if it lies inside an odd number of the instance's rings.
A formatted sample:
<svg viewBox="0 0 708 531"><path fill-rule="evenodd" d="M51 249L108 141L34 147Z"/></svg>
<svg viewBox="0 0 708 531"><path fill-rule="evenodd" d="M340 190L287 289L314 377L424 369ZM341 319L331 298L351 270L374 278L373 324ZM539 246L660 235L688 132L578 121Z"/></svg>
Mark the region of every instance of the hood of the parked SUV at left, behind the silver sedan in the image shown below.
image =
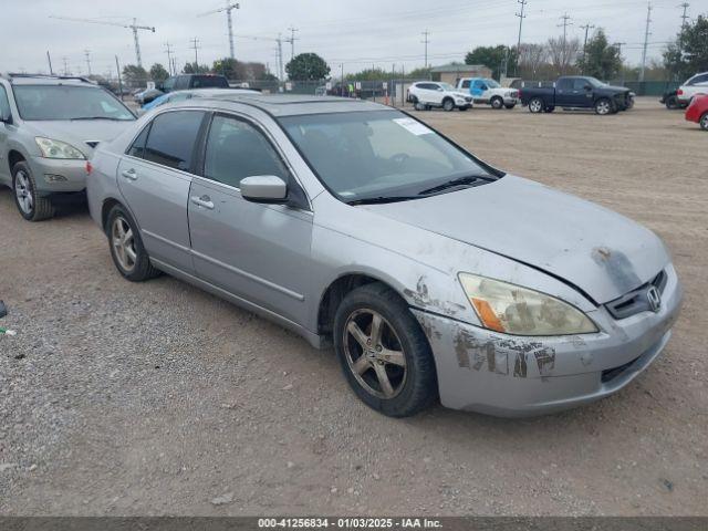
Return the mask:
<svg viewBox="0 0 708 531"><path fill-rule="evenodd" d="M90 155L94 146L87 143L112 140L134 123L134 121L127 119L122 122L112 119L76 119L71 122L62 119L31 122L31 127L35 136L66 142L81 149L85 155Z"/></svg>

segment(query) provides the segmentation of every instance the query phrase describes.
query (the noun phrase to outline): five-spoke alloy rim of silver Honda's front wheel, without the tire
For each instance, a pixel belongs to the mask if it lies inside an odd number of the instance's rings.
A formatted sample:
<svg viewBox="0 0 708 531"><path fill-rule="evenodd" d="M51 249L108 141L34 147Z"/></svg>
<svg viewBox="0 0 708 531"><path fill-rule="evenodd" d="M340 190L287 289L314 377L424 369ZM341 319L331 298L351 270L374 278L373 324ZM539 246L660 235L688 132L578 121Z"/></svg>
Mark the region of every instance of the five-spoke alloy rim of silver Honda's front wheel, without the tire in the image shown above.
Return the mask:
<svg viewBox="0 0 708 531"><path fill-rule="evenodd" d="M384 399L406 384L406 356L396 331L384 316L360 309L348 316L343 336L346 364L367 393Z"/></svg>

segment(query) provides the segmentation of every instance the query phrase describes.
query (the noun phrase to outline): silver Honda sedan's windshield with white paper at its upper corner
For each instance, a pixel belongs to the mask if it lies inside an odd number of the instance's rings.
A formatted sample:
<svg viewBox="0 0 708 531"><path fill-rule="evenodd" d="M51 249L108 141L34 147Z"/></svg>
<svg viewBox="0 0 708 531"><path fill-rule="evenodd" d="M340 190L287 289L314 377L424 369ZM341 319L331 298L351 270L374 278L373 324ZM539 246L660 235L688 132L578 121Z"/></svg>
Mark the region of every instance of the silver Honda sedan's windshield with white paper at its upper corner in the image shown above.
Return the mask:
<svg viewBox="0 0 708 531"><path fill-rule="evenodd" d="M501 175L398 111L287 116L280 123L322 184L345 202L417 199L450 180Z"/></svg>

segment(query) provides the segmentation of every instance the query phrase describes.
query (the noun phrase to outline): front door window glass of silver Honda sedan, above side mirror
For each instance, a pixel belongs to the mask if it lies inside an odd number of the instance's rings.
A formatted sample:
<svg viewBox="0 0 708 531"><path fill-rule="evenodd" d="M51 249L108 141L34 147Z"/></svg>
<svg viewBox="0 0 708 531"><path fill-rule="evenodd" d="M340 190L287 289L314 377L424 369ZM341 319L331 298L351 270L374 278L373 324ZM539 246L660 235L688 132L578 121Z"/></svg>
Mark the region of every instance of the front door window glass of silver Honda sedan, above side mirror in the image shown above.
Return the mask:
<svg viewBox="0 0 708 531"><path fill-rule="evenodd" d="M241 179L274 175L288 183L289 173L278 153L252 125L217 115L207 137L204 176L239 188Z"/></svg>

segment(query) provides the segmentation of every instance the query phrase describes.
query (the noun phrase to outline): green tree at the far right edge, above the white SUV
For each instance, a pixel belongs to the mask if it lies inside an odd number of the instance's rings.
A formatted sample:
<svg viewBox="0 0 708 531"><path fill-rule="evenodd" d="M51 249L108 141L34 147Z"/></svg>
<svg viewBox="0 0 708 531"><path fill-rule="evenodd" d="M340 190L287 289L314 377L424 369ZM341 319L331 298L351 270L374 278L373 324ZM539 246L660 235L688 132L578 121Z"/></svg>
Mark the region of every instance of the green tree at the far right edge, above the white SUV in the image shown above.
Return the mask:
<svg viewBox="0 0 708 531"><path fill-rule="evenodd" d="M666 46L664 65L678 80L708 70L708 17L699 15L681 29Z"/></svg>

